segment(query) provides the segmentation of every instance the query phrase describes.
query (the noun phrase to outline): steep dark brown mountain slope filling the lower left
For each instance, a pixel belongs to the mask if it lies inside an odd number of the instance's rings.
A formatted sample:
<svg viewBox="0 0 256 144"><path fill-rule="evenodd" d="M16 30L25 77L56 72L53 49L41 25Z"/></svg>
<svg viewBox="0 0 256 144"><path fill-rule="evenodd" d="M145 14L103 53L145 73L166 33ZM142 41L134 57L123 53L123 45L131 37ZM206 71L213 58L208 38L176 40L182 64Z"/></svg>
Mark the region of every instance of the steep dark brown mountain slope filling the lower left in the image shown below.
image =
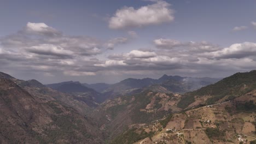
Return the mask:
<svg viewBox="0 0 256 144"><path fill-rule="evenodd" d="M94 120L53 97L30 94L18 81L8 75L0 79L0 143L103 143Z"/></svg>

